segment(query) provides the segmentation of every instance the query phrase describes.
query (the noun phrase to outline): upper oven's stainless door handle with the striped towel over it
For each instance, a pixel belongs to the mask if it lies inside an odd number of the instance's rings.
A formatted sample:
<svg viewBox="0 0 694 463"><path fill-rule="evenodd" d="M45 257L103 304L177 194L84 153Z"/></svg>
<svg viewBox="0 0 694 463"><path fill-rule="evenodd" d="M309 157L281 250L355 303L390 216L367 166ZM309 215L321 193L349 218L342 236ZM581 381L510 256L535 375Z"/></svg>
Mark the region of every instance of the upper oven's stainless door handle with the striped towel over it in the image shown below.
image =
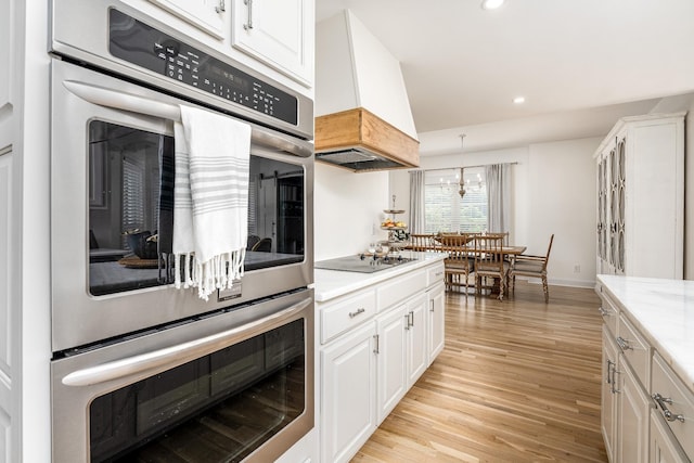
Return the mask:
<svg viewBox="0 0 694 463"><path fill-rule="evenodd" d="M162 101L76 80L65 80L63 85L73 94L92 104L154 116L166 120L181 121L181 108L176 104L164 103ZM250 126L250 140L253 143L285 151L300 157L309 157L313 154L313 145L307 141L277 134L271 130L253 124L248 125Z"/></svg>

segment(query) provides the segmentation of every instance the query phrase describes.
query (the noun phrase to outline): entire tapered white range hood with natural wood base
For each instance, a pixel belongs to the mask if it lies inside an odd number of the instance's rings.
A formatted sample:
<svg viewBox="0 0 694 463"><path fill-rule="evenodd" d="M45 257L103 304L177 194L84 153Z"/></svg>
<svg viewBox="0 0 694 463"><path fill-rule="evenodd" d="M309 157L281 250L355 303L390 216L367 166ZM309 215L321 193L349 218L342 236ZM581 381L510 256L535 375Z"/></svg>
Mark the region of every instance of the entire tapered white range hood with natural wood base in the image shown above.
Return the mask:
<svg viewBox="0 0 694 463"><path fill-rule="evenodd" d="M419 167L400 63L349 10L316 31L316 160L356 172Z"/></svg>

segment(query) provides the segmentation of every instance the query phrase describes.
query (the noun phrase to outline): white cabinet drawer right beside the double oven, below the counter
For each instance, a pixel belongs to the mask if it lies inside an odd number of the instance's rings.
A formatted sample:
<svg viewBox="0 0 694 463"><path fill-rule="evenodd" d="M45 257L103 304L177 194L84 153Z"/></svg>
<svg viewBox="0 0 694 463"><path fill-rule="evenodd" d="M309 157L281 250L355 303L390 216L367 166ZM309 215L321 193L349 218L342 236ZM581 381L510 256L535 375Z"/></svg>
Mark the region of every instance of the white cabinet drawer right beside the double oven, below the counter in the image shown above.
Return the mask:
<svg viewBox="0 0 694 463"><path fill-rule="evenodd" d="M350 296L320 309L321 344L325 344L376 313L376 296L373 290Z"/></svg>

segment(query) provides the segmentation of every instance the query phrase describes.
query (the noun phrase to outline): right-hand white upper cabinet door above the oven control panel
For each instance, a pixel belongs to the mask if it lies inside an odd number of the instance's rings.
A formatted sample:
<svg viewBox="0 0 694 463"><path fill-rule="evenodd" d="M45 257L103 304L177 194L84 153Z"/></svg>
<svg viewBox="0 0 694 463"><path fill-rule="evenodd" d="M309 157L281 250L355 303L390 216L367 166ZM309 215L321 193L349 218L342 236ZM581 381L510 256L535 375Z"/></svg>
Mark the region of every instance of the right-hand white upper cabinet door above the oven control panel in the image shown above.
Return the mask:
<svg viewBox="0 0 694 463"><path fill-rule="evenodd" d="M233 0L233 47L312 86L313 4L314 0Z"/></svg>

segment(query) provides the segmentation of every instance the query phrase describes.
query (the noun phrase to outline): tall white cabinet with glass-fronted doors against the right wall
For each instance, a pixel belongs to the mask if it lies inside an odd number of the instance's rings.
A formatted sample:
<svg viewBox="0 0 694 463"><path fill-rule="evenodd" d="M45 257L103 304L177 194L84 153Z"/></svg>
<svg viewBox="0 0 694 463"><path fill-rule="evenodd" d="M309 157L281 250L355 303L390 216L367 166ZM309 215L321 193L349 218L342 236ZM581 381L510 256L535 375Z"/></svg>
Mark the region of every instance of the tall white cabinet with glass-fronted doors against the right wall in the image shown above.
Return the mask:
<svg viewBox="0 0 694 463"><path fill-rule="evenodd" d="M684 116L625 117L599 146L597 273L682 278Z"/></svg>

